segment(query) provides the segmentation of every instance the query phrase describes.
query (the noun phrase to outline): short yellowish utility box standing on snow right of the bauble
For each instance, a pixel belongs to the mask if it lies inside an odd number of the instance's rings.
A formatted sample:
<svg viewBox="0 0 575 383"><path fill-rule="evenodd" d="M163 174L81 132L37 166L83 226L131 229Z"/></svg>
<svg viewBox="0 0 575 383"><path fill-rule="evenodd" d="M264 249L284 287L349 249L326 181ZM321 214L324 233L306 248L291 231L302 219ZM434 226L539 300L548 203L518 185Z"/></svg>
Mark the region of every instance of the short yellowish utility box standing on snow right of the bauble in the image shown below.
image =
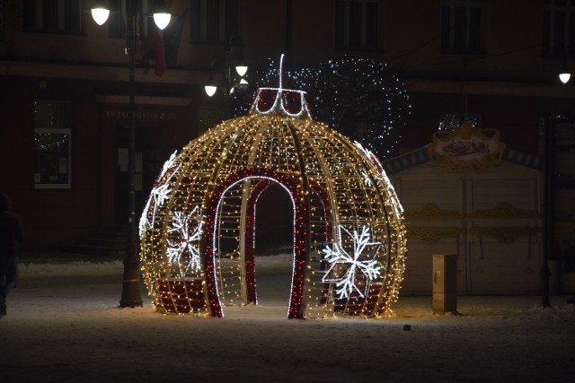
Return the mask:
<svg viewBox="0 0 575 383"><path fill-rule="evenodd" d="M457 312L457 256L433 256L432 304L434 314Z"/></svg>

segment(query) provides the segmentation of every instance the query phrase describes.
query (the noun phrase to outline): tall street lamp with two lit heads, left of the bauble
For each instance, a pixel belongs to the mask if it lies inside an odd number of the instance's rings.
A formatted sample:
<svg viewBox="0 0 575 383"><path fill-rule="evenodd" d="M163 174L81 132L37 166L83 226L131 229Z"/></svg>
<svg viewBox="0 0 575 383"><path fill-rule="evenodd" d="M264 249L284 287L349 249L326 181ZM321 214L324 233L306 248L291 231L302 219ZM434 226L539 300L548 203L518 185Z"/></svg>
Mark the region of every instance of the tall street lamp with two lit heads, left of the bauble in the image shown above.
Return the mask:
<svg viewBox="0 0 575 383"><path fill-rule="evenodd" d="M128 254L124 259L124 275L122 283L122 296L119 300L120 307L142 306L142 294L139 285L139 257L137 251L137 226L136 226L136 187L135 187L135 159L136 159L136 80L134 71L134 50L136 48L137 8L135 0L126 2L126 50L129 63L129 145L128 145L128 178L129 178L129 231L128 231ZM94 22L102 25L110 10L96 2L92 9ZM154 13L154 22L160 30L170 23L170 13L159 11Z"/></svg>

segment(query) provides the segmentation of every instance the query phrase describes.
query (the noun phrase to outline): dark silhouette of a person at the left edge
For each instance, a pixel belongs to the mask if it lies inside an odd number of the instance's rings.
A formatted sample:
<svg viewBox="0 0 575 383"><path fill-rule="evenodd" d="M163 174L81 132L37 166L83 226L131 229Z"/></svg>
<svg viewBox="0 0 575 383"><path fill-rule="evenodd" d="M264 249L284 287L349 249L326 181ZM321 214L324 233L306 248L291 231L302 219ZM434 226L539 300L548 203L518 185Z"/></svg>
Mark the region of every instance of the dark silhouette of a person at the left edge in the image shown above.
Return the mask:
<svg viewBox="0 0 575 383"><path fill-rule="evenodd" d="M0 318L6 315L6 297L18 279L18 245L24 240L20 218L10 213L10 199L0 194Z"/></svg>

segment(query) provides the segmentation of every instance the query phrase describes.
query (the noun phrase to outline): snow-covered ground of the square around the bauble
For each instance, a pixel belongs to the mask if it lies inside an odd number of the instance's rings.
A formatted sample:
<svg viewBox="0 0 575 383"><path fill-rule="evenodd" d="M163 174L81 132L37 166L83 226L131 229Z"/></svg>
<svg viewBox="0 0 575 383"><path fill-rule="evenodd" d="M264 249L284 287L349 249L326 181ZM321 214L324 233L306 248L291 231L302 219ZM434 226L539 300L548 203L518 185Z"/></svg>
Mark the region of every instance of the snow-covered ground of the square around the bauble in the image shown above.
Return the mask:
<svg viewBox="0 0 575 383"><path fill-rule="evenodd" d="M226 318L119 309L122 264L22 264L0 320L0 382L572 381L575 307L464 297L460 316L400 297L394 317L287 319L289 257L258 258L261 305ZM404 326L411 326L405 331Z"/></svg>

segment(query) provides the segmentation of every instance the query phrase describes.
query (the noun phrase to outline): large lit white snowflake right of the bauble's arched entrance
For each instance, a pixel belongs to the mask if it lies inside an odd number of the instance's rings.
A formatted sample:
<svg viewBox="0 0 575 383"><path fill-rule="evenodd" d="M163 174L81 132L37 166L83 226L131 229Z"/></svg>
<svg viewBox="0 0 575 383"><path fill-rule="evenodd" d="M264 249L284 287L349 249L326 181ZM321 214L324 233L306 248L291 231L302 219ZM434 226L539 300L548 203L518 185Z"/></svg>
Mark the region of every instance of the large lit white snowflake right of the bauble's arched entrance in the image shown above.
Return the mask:
<svg viewBox="0 0 575 383"><path fill-rule="evenodd" d="M323 248L323 257L330 264L330 267L323 276L323 282L335 282L336 293L338 298L349 298L352 292L358 292L358 294L363 298L367 292L367 283L363 291L358 287L357 280L361 276L359 273L365 275L367 281L373 281L376 277L381 274L381 266L378 265L376 259L365 259L360 260L360 257L367 257L363 254L366 248L375 247L373 255L377 253L377 250L381 246L380 242L371 241L371 235L369 233L369 227L364 225L361 231L353 231L351 233L344 226L340 225L340 236L337 242L332 244L332 247L327 245ZM351 254L343 248L341 244L341 231L345 231L353 241L353 249ZM330 276L336 275L333 270L338 265L348 265L348 269L343 275L340 276Z"/></svg>

